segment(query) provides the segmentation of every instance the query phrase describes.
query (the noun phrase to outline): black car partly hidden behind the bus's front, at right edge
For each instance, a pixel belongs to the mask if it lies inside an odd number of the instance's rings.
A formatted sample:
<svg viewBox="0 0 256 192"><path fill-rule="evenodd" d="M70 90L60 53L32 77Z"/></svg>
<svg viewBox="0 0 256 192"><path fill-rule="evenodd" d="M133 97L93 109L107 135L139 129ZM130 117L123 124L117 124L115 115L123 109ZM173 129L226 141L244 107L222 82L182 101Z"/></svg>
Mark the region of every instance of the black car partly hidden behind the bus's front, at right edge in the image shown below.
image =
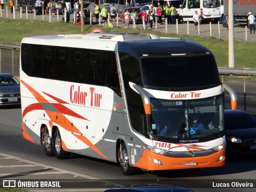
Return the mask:
<svg viewBox="0 0 256 192"><path fill-rule="evenodd" d="M256 154L256 118L242 110L224 110L226 153Z"/></svg>

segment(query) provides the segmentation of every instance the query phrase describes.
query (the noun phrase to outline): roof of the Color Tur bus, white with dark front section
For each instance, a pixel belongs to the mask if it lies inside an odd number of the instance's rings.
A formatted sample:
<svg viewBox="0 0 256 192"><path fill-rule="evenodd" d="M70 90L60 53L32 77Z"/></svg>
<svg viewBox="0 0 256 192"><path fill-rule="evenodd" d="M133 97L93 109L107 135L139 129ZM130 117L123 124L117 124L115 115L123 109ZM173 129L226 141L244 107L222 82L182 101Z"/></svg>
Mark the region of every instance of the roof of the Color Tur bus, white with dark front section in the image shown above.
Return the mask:
<svg viewBox="0 0 256 192"><path fill-rule="evenodd" d="M64 40L65 39L65 40ZM89 33L23 38L22 43L134 52L138 56L210 54L204 46L188 39L160 38L154 34ZM160 49L161 51L156 51Z"/></svg>

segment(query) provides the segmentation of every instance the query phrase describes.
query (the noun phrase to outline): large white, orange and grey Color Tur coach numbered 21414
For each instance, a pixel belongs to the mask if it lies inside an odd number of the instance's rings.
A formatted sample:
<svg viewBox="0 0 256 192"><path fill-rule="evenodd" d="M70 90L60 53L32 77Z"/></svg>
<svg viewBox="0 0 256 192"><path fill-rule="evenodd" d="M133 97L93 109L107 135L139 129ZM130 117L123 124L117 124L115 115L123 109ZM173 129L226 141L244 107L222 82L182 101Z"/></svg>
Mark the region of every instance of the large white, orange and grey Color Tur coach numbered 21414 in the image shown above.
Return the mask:
<svg viewBox="0 0 256 192"><path fill-rule="evenodd" d="M236 109L213 54L192 40L95 33L21 43L24 138L58 159L119 162L125 175L224 166L222 88Z"/></svg>

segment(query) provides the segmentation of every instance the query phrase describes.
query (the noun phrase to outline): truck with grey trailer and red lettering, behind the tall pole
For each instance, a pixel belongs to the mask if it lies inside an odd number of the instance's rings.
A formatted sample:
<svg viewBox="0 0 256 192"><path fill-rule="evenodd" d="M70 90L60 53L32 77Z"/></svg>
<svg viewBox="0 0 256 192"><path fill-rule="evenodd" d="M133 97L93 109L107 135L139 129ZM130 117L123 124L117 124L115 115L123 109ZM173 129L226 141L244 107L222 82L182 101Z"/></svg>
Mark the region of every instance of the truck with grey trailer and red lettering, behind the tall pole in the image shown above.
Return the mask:
<svg viewBox="0 0 256 192"><path fill-rule="evenodd" d="M220 0L220 22L227 27L228 0ZM256 1L233 0L234 24L247 25L248 13L256 14Z"/></svg>

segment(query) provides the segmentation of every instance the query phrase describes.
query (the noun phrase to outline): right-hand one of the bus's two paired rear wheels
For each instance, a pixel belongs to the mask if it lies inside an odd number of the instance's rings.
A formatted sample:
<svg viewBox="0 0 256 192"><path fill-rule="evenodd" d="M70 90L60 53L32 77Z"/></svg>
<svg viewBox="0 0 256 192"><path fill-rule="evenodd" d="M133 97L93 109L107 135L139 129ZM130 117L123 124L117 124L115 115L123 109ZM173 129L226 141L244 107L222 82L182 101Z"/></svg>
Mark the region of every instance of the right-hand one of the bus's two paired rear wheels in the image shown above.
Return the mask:
<svg viewBox="0 0 256 192"><path fill-rule="evenodd" d="M54 153L57 159L66 159L70 157L70 152L64 151L62 149L59 130L54 132Z"/></svg>

